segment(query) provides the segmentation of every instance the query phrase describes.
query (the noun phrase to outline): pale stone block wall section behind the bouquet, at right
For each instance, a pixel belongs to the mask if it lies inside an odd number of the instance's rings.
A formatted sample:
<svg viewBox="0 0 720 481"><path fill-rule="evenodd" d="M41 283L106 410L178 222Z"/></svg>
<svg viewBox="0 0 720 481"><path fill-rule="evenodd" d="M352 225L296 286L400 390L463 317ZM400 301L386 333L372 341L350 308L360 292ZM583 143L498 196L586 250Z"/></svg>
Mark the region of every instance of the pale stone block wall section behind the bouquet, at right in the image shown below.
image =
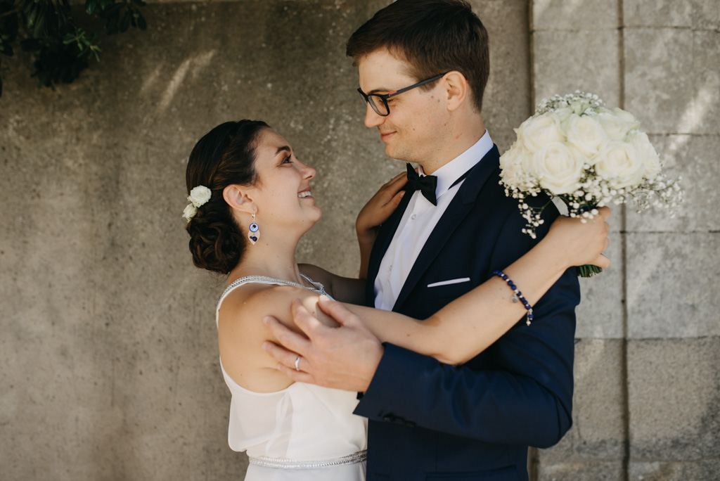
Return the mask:
<svg viewBox="0 0 720 481"><path fill-rule="evenodd" d="M686 200L616 208L613 266L582 282L574 426L538 480L720 478L720 4L531 2L534 102L581 89L636 114Z"/></svg>

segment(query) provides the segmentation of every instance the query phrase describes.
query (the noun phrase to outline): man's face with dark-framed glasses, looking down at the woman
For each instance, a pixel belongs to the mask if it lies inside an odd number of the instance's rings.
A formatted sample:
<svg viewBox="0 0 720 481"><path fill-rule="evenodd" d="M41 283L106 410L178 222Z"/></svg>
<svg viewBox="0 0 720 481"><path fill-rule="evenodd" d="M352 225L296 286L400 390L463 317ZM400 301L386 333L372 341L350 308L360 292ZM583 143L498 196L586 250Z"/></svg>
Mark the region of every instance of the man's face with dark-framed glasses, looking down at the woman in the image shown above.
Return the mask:
<svg viewBox="0 0 720 481"><path fill-rule="evenodd" d="M408 63L384 48L361 58L358 67L360 89L366 94L390 94L418 82L408 73ZM420 165L432 159L443 141L447 114L441 93L442 83L438 81L430 90L417 88L390 97L386 117L366 105L365 125L377 127L387 156Z"/></svg>

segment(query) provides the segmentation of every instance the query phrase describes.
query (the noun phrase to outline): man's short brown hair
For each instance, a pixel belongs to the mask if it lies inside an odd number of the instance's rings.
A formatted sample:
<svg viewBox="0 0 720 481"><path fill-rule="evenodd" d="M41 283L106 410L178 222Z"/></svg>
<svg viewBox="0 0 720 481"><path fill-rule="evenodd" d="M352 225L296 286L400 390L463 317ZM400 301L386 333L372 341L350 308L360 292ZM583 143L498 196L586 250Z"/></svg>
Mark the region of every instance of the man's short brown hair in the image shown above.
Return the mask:
<svg viewBox="0 0 720 481"><path fill-rule="evenodd" d="M351 35L346 54L357 64L380 48L409 63L410 75L418 81L459 71L467 78L474 107L482 112L490 50L487 30L466 1L397 0Z"/></svg>

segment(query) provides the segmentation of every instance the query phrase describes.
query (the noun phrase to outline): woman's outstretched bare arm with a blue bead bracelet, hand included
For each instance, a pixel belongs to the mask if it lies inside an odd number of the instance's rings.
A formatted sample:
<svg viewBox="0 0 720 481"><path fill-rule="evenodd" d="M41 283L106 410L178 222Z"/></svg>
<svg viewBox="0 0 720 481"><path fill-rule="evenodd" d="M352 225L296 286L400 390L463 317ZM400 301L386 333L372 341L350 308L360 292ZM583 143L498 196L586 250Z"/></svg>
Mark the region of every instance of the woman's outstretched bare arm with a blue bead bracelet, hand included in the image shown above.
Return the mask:
<svg viewBox="0 0 720 481"><path fill-rule="evenodd" d="M601 254L607 247L609 210L600 220L581 225L560 217L548 235L505 269L523 297L534 305L570 266L610 265ZM472 359L500 338L526 314L521 302L512 302L513 291L503 279L493 277L459 297L426 320L415 320L390 311L357 305L345 307L358 316L382 342L390 342L448 364ZM333 317L343 307L323 300L320 309Z"/></svg>

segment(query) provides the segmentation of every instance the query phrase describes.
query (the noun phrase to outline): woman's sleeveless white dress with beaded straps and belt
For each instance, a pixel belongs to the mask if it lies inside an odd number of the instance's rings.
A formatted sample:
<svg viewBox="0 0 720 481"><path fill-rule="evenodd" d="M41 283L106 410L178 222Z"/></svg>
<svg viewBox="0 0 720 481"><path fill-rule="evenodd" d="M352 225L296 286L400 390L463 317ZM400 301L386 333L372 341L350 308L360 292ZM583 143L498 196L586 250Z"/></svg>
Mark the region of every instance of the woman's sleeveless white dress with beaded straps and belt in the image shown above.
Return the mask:
<svg viewBox="0 0 720 481"><path fill-rule="evenodd" d="M269 277L238 279L217 302L216 320L222 300L250 282L295 285L325 294L323 284L305 279L315 289ZM220 368L233 395L228 444L248 453L246 481L365 480L367 420L353 414L355 392L302 382L277 392L253 392L225 372L222 359Z"/></svg>

